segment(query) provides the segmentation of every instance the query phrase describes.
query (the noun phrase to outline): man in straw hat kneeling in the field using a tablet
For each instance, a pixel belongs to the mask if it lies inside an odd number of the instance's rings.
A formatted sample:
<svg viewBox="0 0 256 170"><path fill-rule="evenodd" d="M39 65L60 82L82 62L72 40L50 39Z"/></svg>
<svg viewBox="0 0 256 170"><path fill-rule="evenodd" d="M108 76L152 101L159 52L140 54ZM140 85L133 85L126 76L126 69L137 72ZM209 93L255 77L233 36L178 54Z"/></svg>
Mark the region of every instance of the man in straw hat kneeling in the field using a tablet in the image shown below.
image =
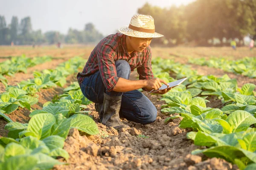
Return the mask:
<svg viewBox="0 0 256 170"><path fill-rule="evenodd" d="M122 34L111 34L96 45L83 72L77 75L82 93L95 103L102 124L116 129L128 127L119 116L143 125L154 122L157 109L137 89L151 91L162 83L168 85L154 78L151 69L149 44L152 38L163 37L154 31L153 17L134 15L130 25L122 26L119 31ZM129 80L135 68L139 80Z"/></svg>

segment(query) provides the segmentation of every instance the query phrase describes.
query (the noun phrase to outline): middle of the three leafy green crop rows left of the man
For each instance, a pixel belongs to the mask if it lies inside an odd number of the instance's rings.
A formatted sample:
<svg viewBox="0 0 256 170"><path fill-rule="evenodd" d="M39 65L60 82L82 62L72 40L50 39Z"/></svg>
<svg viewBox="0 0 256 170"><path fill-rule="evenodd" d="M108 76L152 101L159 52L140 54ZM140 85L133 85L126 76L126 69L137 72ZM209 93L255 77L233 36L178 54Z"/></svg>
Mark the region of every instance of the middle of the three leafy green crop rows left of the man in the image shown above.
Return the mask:
<svg viewBox="0 0 256 170"><path fill-rule="evenodd" d="M17 86L7 86L6 92L0 94L0 111L9 114L17 110L18 107L30 110L31 105L38 102L36 92L42 88L56 87L57 85L63 87L66 77L77 72L83 62L85 60L81 57L73 57L58 65L55 70L35 71L34 79L21 81Z"/></svg>

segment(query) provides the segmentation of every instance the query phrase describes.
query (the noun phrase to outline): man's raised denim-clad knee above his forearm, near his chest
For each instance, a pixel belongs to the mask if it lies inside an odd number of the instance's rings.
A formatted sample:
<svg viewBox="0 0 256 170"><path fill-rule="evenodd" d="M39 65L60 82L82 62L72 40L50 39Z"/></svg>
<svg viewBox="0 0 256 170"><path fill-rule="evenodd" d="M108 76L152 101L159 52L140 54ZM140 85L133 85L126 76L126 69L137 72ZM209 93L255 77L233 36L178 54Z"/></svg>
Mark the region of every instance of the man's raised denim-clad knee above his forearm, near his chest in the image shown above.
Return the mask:
<svg viewBox="0 0 256 170"><path fill-rule="evenodd" d="M120 59L115 62L115 65L116 65L117 77L129 79L130 74L131 74L131 67L130 67L129 63L125 60Z"/></svg>

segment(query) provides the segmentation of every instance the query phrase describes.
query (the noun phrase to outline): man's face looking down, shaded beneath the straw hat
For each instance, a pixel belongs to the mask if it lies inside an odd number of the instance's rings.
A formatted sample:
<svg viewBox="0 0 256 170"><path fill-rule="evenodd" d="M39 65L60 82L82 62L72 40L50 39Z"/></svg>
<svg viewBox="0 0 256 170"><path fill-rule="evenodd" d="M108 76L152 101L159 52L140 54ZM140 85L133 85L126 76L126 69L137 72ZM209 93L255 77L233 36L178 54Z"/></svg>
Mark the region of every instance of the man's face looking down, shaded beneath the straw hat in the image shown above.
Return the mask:
<svg viewBox="0 0 256 170"><path fill-rule="evenodd" d="M130 37L131 47L134 51L142 52L151 43L153 38Z"/></svg>

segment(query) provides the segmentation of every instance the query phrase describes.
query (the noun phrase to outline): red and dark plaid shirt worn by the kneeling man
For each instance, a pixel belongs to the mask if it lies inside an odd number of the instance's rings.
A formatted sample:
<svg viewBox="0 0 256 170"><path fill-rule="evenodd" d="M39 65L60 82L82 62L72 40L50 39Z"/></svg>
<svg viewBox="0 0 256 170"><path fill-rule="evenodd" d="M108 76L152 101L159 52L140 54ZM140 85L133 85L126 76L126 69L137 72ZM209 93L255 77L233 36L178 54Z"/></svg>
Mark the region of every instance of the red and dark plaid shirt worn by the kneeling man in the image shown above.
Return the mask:
<svg viewBox="0 0 256 170"><path fill-rule="evenodd" d="M151 48L148 46L142 52L132 52L126 47L126 35L111 34L101 40L90 54L83 72L77 74L79 85L91 74L99 71L107 91L113 91L118 81L115 61L124 59L131 67L131 72L137 68L139 79L154 78L151 68Z"/></svg>

